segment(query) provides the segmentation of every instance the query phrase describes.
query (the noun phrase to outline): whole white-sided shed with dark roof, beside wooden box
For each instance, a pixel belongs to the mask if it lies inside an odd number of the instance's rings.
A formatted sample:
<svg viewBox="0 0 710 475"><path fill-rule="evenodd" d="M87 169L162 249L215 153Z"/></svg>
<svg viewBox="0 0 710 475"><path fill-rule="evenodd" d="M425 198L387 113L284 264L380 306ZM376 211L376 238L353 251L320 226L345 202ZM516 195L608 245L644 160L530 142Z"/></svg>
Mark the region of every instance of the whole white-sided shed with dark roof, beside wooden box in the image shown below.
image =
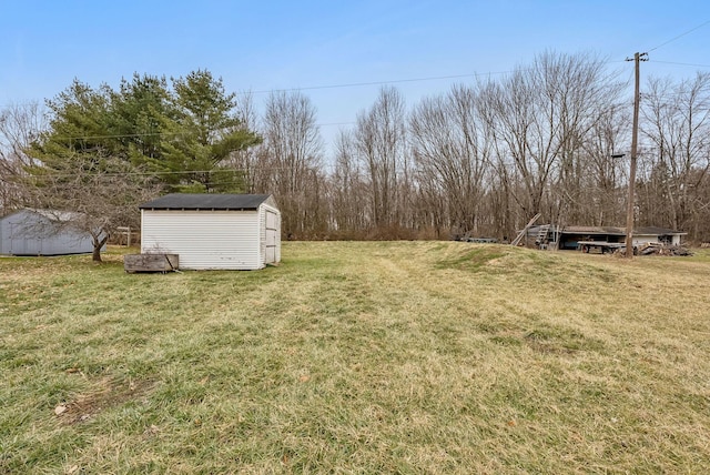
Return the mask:
<svg viewBox="0 0 710 475"><path fill-rule="evenodd" d="M141 253L180 269L256 270L281 261L281 212L270 194L174 193L141 204Z"/></svg>

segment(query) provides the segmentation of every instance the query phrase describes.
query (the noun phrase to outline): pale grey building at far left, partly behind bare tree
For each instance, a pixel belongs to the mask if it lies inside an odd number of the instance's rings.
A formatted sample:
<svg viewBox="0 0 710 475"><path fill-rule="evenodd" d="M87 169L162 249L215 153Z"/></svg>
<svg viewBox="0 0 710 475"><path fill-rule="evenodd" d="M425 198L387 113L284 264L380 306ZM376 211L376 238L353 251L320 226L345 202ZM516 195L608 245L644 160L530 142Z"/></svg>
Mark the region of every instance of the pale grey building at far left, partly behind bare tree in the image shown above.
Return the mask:
<svg viewBox="0 0 710 475"><path fill-rule="evenodd" d="M0 254L65 255L93 251L91 235L72 222L80 213L24 209L0 218Z"/></svg>

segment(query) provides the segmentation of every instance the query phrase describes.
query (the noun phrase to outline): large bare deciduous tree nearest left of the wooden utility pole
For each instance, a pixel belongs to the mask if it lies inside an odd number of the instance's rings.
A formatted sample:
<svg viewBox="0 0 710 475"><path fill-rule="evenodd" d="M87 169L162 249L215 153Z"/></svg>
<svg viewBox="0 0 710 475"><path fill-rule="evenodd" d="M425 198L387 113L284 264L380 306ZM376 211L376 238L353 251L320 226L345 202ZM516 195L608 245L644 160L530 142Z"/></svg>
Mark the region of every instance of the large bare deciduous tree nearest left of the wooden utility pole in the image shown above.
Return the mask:
<svg viewBox="0 0 710 475"><path fill-rule="evenodd" d="M585 144L620 85L589 55L545 53L483 88L481 115L496 135L498 173L527 218L584 220Z"/></svg>

